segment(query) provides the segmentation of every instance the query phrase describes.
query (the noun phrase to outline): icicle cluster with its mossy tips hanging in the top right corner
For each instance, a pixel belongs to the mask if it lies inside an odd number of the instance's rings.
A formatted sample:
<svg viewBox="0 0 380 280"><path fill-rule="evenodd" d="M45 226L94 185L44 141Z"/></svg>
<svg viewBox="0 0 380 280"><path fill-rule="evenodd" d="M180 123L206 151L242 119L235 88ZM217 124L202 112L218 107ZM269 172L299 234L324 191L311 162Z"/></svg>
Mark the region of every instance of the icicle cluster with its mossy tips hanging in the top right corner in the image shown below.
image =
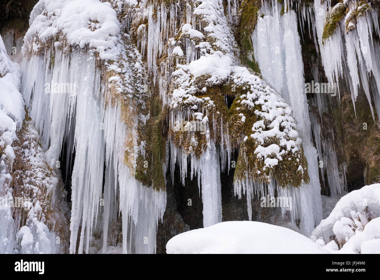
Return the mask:
<svg viewBox="0 0 380 280"><path fill-rule="evenodd" d="M344 10L348 8L349 12L342 20L334 22L336 30L327 37L323 36L326 17L333 14L334 9L339 8L339 5L333 8L328 5L327 2L321 3L317 0L313 5L314 11L319 11L314 13L316 32L313 33L315 40L318 40L322 65L328 82L335 83L339 91L341 80L348 81L354 103L358 96L358 87L362 86L374 117L370 92L375 100L377 113L380 112L379 41L372 35L372 33L379 35L377 7L374 6L372 9L364 1L339 3ZM352 17L354 13L355 20Z"/></svg>

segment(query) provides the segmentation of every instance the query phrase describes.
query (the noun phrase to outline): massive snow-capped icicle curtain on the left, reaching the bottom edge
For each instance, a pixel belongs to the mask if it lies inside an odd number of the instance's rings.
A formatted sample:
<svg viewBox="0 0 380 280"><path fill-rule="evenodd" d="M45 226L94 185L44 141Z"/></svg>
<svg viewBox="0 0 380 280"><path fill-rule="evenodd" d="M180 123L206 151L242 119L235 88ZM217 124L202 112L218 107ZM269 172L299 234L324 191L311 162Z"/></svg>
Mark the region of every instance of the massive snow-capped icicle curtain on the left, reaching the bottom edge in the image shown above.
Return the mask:
<svg viewBox="0 0 380 280"><path fill-rule="evenodd" d="M104 253L109 224L116 221L118 212L123 222L123 252L154 253L155 232L165 210L166 194L134 178L137 151L143 149L136 142L135 124L149 118L133 111L135 102L143 107L146 98L141 55L128 46L131 42L127 34L119 34L117 15L108 3L84 5L82 12L91 15L89 21L94 23L86 25L90 30L87 36L77 33L84 28L79 25L82 21L70 29L61 25L70 19L65 14L70 3L60 5L57 18L43 18L53 21L55 27L45 30L46 36L41 36L40 18L57 6L40 2L32 12L41 15L32 21L25 36L24 52L30 52L30 59L23 64L22 92L42 135L49 164L56 164L64 142L69 153L75 152L70 252L76 252L77 241L78 253L90 252L102 211ZM29 47L40 41L44 48ZM38 71L31 71L33 68ZM68 87L62 91L60 85ZM106 183L102 197L103 173Z"/></svg>

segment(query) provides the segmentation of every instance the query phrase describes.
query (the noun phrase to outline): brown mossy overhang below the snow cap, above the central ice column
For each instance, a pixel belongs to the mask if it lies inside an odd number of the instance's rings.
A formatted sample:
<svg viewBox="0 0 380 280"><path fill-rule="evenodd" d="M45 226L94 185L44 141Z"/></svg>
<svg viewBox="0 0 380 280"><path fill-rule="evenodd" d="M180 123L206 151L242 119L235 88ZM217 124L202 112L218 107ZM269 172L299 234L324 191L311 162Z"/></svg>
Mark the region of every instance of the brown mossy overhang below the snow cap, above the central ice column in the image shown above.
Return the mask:
<svg viewBox="0 0 380 280"><path fill-rule="evenodd" d="M195 105L197 111L206 111L210 135L214 136L215 142L221 143L223 135L227 135L228 143L230 143L231 147L240 149L234 171L234 180L236 182L249 179L269 183L271 180L277 180L279 185L283 187L297 187L301 186L302 182L308 182L307 162L302 151L301 142L296 135L263 136L264 140L261 142L261 134L266 135L266 132L274 131L272 130L274 120L266 119L265 117L268 106L271 106L269 104L274 102L271 99L273 97L264 94L263 96L256 96L257 99L251 99L252 97L247 97L247 95L250 95L250 91L253 90L249 84L234 85L230 83L208 88L204 95L196 94L197 98L182 100L181 105L174 110L183 111L187 108L191 111L191 108ZM233 91L231 91L231 86L233 86ZM262 90L264 91L264 89ZM231 93L234 93L237 97L228 108L225 96ZM261 101L258 101L259 99ZM257 104L252 105L254 102L257 102ZM263 105L265 109L263 109ZM286 104L282 103L280 106L286 106ZM276 109L272 108L271 110ZM288 109L284 107L279 110L284 110L283 112L285 113ZM192 113L189 113L188 116L192 116ZM288 120L291 121L290 119ZM217 123L216 127L219 129L223 127L223 130L215 131L212 125L215 123ZM222 124L224 125L222 126ZM286 127L288 124L289 122L280 121L280 134L282 132L284 135L287 133L292 134L290 132L292 129ZM182 147L185 153L195 153L199 157L206 150L206 135L201 135L199 132L189 133L188 131L169 130L169 135L171 135L175 145ZM259 139L255 137L259 137ZM296 146L290 151L284 144L286 141L283 142L282 137L294 141L292 145ZM278 147L278 153L282 154L282 156L279 156L276 152L265 156L260 155L261 149L271 145ZM270 159L276 163L273 165L268 164Z"/></svg>

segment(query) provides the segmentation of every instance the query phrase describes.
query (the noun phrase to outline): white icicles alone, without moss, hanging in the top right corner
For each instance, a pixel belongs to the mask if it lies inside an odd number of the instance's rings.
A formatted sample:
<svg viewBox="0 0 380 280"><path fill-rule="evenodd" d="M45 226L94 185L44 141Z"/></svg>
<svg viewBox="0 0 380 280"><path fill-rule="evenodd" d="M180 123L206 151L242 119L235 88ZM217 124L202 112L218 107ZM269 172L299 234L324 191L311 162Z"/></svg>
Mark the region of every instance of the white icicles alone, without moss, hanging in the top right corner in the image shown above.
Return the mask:
<svg viewBox="0 0 380 280"><path fill-rule="evenodd" d="M358 5L356 2L348 5L350 12L356 8L356 5ZM376 43L372 35L372 33L377 35L379 33L377 12L376 10L367 11L366 14L358 17L356 28L350 30L348 33L342 30L344 29L344 22L339 22L332 36L323 41L322 33L328 7L330 7L328 3L321 4L318 0L314 1L319 49L321 52L322 65L328 81L331 84L335 82L339 91L339 78L343 77L347 80L347 77L350 77L351 82L348 83L348 87L351 91L354 109L355 101L358 96L358 87L361 84L371 108L372 118L374 118L370 89L377 87L377 85L372 83L378 84L378 81L373 79L371 81L370 73L372 73L374 77L376 77L375 73L378 73L378 69L375 69L373 65L376 60L375 49L373 47ZM372 91L372 95L374 94L376 94L376 92ZM378 99L375 96L373 98L374 100ZM376 108L378 111L378 106Z"/></svg>

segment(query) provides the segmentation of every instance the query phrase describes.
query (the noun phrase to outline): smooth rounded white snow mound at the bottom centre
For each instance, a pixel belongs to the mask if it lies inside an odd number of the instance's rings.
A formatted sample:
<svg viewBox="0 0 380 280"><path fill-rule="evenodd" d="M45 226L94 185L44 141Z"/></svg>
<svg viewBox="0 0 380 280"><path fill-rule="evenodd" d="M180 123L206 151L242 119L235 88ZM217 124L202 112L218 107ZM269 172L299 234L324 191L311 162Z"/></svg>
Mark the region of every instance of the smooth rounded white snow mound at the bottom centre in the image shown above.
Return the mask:
<svg viewBox="0 0 380 280"><path fill-rule="evenodd" d="M251 221L230 221L174 236L168 254L322 254L329 253L291 229Z"/></svg>

